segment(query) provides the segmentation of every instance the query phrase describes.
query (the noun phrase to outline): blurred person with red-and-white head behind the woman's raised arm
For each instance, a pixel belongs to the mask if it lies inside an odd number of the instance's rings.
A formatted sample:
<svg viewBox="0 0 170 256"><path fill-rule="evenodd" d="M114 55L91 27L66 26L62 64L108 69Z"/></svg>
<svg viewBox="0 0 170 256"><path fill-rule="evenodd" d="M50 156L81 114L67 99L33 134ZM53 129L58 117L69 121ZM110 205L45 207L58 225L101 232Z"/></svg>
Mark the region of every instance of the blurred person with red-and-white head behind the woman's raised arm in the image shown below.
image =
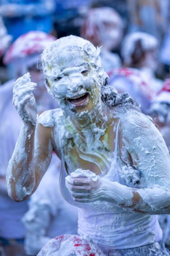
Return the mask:
<svg viewBox="0 0 170 256"><path fill-rule="evenodd" d="M14 79L30 72L34 82L38 83L38 113L55 108L56 103L46 93L43 77L37 69L39 53L54 37L41 31L31 31L22 35L10 46L4 56L5 64L13 63ZM24 256L25 229L21 222L28 211L28 203L18 204L7 193L6 169L17 141L21 121L12 104L14 79L0 86L0 246L5 256Z"/></svg>

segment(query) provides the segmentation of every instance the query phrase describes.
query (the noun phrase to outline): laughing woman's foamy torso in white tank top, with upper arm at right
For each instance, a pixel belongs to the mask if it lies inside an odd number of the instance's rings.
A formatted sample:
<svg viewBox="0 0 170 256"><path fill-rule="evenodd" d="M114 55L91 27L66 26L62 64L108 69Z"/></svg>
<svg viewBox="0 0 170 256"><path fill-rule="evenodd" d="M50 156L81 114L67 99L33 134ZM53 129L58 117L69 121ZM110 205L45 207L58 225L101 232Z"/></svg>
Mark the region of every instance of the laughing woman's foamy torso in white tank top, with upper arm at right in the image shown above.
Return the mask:
<svg viewBox="0 0 170 256"><path fill-rule="evenodd" d="M117 109L116 113L106 130L94 127L95 138L87 130L86 141L60 109L47 111L38 119L43 126L54 127L55 147L61 152L61 193L66 201L80 208L79 234L89 235L100 245L114 249L160 241L162 232L156 215L132 212L109 202L75 202L65 178L74 176L76 169L80 175L84 173L82 169L89 169L94 172L90 178L99 175L127 187L151 187L156 182L156 173L163 168L161 152L167 151L161 134L148 117L135 109ZM158 150L155 143L159 144Z"/></svg>

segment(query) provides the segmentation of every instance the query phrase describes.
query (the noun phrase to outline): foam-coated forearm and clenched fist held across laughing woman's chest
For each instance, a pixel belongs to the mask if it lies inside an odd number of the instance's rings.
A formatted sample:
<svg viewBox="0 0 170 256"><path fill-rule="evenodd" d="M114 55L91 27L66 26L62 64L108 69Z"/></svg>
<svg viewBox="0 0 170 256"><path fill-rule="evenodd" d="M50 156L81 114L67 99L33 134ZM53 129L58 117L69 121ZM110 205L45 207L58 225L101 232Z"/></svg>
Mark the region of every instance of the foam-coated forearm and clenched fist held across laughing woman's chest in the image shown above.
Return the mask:
<svg viewBox="0 0 170 256"><path fill-rule="evenodd" d="M78 172L79 173L78 173ZM147 214L170 213L170 190L165 187L131 188L95 176L89 170L76 170L66 177L66 187L76 202L105 201L128 211ZM91 175L95 178L91 180ZM78 175L78 176L76 176ZM96 179L94 181L94 179Z"/></svg>

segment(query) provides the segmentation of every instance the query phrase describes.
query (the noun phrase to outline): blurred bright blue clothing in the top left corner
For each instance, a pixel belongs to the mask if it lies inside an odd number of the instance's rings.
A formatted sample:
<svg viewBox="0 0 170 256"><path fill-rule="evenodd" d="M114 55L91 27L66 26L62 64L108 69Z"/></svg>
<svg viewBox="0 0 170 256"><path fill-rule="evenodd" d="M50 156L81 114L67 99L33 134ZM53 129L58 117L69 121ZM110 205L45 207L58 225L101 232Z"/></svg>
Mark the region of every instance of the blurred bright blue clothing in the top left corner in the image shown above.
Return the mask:
<svg viewBox="0 0 170 256"><path fill-rule="evenodd" d="M2 0L0 16L13 40L30 30L53 30L54 0Z"/></svg>

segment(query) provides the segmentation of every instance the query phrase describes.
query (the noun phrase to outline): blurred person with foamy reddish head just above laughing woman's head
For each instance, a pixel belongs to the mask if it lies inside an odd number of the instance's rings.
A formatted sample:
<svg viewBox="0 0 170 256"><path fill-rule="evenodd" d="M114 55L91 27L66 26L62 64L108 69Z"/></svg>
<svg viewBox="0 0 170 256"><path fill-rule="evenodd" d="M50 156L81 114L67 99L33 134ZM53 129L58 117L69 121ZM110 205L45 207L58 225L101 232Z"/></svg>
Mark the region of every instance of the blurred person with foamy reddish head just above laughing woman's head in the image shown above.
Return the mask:
<svg viewBox="0 0 170 256"><path fill-rule="evenodd" d="M120 15L110 7L90 9L81 28L81 37L100 47L100 57L106 72L121 66L117 49L123 37L123 21Z"/></svg>

